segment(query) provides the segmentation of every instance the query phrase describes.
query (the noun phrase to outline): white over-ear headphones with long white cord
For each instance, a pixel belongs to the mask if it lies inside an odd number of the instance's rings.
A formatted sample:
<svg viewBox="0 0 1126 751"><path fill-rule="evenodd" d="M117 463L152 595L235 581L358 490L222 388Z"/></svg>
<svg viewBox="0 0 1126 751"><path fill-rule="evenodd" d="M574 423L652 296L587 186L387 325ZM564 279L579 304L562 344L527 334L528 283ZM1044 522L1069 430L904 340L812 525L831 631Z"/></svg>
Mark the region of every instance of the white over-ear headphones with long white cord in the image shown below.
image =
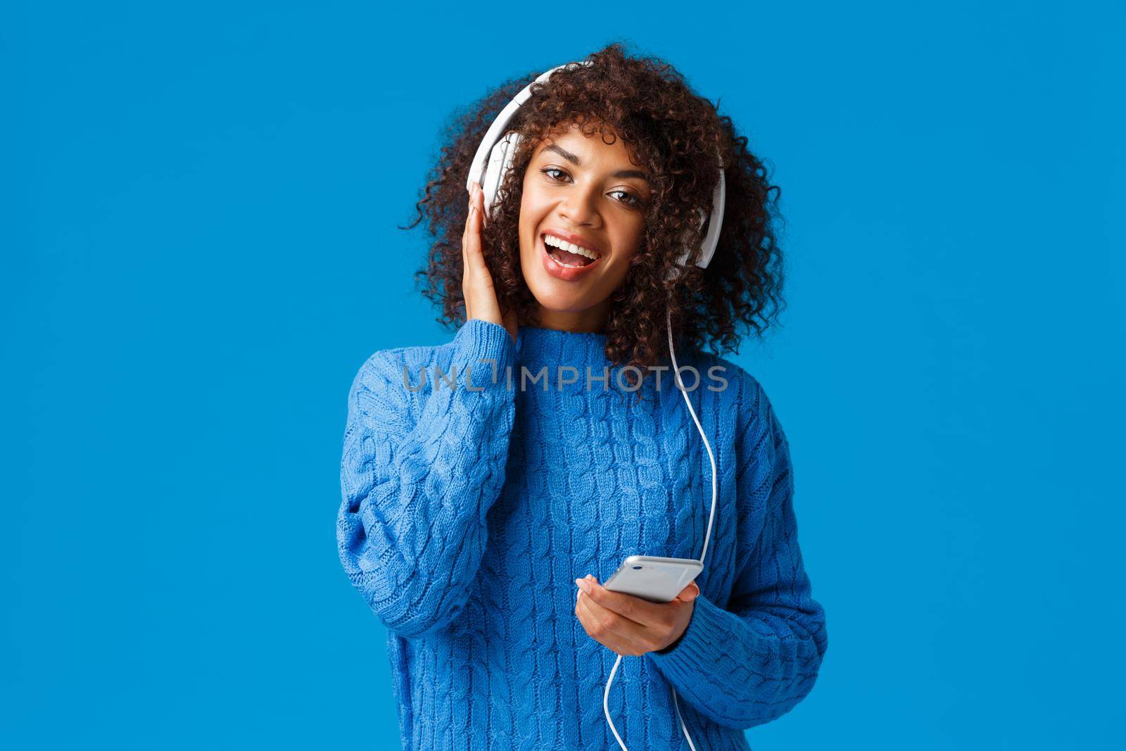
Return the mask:
<svg viewBox="0 0 1126 751"><path fill-rule="evenodd" d="M477 146L477 153L473 157L473 163L470 166L470 175L465 180L465 189L471 190L474 182L481 185L481 193L484 198L484 211L485 216L490 216L493 205L495 205L498 196L497 191L500 188L501 180L508 173L508 170L512 166L512 159L516 154L517 145L520 143L520 134L516 131L504 133L508 128L508 124L512 120L516 111L528 100L531 96L531 87L536 83L542 83L548 79L548 77L555 71L562 68L574 68L580 65L589 65L590 61L580 61L574 63L564 63L563 65L556 65L545 73L538 75L535 81L524 87L519 93L512 97L512 101L500 111L493 124L489 126L489 131L485 132L484 137L481 140L481 145ZM503 135L502 135L503 134ZM712 262L712 257L715 254L715 248L720 243L720 229L723 226L723 209L727 198L727 181L723 175L723 160L720 160L720 180L716 182L715 191L712 194L712 214L713 221L708 225L707 233L700 241L700 257L696 261L696 266L700 268L707 268L707 265ZM707 221L708 214L703 209L699 212L699 224L697 225L697 231L704 226L704 222ZM687 243L681 243L681 250L677 256L677 267L674 267L670 272L670 278L676 276L680 268L682 268L687 261L688 256L691 252L691 248ZM704 563L704 556L707 555L707 544L712 537L712 520L715 518L715 500L716 500L716 471L715 471L715 455L712 453L712 446L708 444L707 436L704 435L704 428L700 426L699 418L696 417L696 410L692 409L691 400L688 399L688 392L685 390L685 384L680 379L680 369L677 366L677 355L672 347L672 314L669 309L665 309L665 323L669 330L669 356L672 358L672 372L676 375L677 386L680 388L681 395L685 397L685 404L688 405L688 411L692 415L692 421L696 423L696 429L700 433L700 438L704 439L704 446L707 448L708 458L712 461L712 513L707 520L707 533L704 535L704 551L700 553L699 562ZM614 737L617 739L618 745L622 746L623 751L628 751L626 744L622 741L622 736L618 735L617 728L614 726L614 721L610 718L610 683L614 682L614 674L618 670L618 665L622 663L622 655L618 655L617 661L614 663L614 668L610 670L610 677L606 681L606 690L602 692L602 712L606 714L606 722L610 725L610 732L614 733ZM670 687L671 688L671 687ZM691 735L688 734L688 727L685 725L685 718L680 716L680 704L677 701L677 691L672 689L672 706L677 709L677 719L680 721L680 730L683 732L685 737L688 740L688 746L691 751L696 751L696 745L692 743Z"/></svg>

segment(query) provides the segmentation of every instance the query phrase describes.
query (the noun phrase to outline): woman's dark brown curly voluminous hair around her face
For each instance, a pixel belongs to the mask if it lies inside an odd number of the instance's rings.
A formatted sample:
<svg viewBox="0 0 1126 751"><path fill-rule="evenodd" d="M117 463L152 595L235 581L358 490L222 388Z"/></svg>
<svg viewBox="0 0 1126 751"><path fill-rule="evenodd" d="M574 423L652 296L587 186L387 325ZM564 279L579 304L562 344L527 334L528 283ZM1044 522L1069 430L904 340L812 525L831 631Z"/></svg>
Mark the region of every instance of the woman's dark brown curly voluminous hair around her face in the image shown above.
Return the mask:
<svg viewBox="0 0 1126 751"><path fill-rule="evenodd" d="M542 140L577 124L607 143L620 137L633 161L651 176L652 194L642 243L615 290L606 322L606 355L611 364L646 367L668 356L665 311L683 346L716 355L738 351L740 330L761 338L785 310L783 259L774 220L780 189L747 149L732 120L695 93L683 77L656 57L629 56L613 43L587 57L591 64L556 71L533 88L509 129L522 140L512 169L502 180L500 203L482 229L485 260L502 310L515 307L521 325L538 325L535 299L520 270L518 221L524 173ZM422 293L443 309L446 325L465 320L462 295L462 231L467 217L465 181L485 131L500 110L538 73L512 79L459 114L444 136L438 163L427 176L415 204L432 236L428 263L414 275ZM720 242L706 269L695 266L707 225L697 211L711 209L718 160L726 178L726 207ZM692 238L689 266L673 279L678 239Z"/></svg>

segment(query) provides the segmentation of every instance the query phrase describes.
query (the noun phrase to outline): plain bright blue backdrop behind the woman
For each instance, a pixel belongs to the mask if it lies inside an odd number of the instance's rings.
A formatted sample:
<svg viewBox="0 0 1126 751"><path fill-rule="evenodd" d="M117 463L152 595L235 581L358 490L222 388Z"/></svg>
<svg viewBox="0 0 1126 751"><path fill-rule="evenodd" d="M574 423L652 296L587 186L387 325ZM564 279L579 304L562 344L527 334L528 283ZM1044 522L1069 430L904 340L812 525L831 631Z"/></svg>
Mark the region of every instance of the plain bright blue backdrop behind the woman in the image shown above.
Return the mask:
<svg viewBox="0 0 1126 751"><path fill-rule="evenodd" d="M830 646L756 751L1120 743L1123 16L778 5L6 5L0 745L396 746L334 537L356 369L453 337L395 225L455 107L613 39L783 187L736 361Z"/></svg>

